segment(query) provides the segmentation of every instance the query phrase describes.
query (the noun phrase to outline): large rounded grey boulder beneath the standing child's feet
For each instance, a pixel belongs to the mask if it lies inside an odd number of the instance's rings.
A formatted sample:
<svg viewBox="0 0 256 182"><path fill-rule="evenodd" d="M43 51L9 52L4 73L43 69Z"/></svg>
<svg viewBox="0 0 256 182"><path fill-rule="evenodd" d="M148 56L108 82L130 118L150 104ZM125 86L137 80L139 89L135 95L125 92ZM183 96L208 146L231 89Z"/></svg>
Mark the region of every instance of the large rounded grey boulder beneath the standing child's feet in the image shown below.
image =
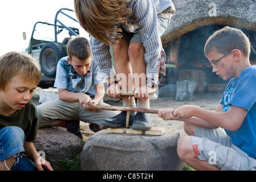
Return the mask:
<svg viewBox="0 0 256 182"><path fill-rule="evenodd" d="M156 135L116 134L110 129L92 135L81 156L83 171L177 171L184 163L177 155L180 133Z"/></svg>

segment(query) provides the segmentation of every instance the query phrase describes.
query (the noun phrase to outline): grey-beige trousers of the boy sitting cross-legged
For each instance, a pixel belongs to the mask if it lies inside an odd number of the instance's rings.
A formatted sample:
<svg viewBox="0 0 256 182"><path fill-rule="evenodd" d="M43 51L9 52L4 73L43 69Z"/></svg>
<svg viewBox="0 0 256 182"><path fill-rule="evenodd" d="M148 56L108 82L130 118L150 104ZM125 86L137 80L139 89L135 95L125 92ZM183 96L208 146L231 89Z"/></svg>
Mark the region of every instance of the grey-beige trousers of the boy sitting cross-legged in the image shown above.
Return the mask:
<svg viewBox="0 0 256 182"><path fill-rule="evenodd" d="M104 102L99 104L108 105ZM36 110L38 111L39 118L38 127L50 126L57 119L66 121L79 120L100 126L103 119L114 117L120 113L120 111L109 110L88 111L79 102L65 102L61 100L44 102L36 106Z"/></svg>

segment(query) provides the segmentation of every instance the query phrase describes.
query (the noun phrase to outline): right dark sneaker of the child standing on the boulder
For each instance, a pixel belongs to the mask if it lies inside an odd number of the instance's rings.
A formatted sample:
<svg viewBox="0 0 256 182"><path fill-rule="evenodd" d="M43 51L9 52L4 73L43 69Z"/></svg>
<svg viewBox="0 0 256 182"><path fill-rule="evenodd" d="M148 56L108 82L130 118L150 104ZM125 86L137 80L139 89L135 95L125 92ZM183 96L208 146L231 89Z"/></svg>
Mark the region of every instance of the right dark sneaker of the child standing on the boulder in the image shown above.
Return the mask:
<svg viewBox="0 0 256 182"><path fill-rule="evenodd" d="M133 130L150 130L153 126L153 121L148 113L137 112L133 117Z"/></svg>

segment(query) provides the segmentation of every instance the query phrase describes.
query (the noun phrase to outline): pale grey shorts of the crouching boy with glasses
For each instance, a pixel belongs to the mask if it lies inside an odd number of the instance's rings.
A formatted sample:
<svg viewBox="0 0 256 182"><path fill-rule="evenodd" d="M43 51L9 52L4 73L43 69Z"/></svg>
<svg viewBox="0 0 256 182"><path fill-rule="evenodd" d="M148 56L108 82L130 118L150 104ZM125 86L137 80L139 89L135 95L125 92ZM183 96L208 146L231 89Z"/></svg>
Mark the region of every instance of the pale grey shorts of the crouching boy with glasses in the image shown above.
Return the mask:
<svg viewBox="0 0 256 182"><path fill-rule="evenodd" d="M198 159L222 171L256 170L256 159L232 144L225 130L196 126L194 135L196 137L192 137L192 147Z"/></svg>

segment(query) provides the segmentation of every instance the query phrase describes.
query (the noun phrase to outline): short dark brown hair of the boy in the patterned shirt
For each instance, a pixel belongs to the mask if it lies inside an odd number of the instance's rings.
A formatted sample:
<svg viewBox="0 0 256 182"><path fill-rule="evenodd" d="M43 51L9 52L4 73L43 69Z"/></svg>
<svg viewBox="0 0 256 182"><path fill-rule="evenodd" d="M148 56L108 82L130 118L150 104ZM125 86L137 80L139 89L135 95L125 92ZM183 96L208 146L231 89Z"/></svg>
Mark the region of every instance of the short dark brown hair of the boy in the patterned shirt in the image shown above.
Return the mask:
<svg viewBox="0 0 256 182"><path fill-rule="evenodd" d="M71 39L67 44L67 54L72 61L72 56L77 57L79 60L85 61L88 57L92 56L90 43L86 38L76 36Z"/></svg>

